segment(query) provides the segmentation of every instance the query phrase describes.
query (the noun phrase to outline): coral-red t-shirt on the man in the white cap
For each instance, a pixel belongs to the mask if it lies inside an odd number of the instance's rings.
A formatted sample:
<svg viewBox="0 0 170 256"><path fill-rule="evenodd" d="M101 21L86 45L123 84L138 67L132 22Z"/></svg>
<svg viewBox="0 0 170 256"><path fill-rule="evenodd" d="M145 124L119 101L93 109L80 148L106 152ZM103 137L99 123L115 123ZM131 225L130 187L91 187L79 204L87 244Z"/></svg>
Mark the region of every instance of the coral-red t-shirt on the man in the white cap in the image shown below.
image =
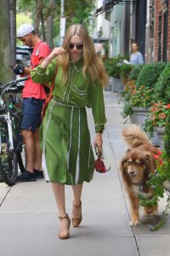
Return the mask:
<svg viewBox="0 0 170 256"><path fill-rule="evenodd" d="M38 42L31 54L31 65L33 69L39 65L40 58L46 58L50 54L50 48L48 44L42 41ZM25 82L25 87L22 93L23 98L33 97L36 99L46 99L46 93L42 84L34 83L29 75L29 79Z"/></svg>

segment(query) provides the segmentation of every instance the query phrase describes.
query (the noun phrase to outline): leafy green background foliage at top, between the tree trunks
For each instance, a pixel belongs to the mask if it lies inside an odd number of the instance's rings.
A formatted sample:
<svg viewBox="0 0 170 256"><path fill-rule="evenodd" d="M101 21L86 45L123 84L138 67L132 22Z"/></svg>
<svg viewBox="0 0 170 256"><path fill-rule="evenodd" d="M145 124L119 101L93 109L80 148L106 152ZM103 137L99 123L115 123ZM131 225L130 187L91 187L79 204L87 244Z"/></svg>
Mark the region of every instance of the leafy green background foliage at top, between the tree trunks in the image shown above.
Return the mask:
<svg viewBox="0 0 170 256"><path fill-rule="evenodd" d="M48 1L42 0L42 16L46 22L48 18ZM67 0L65 1L65 18L66 28L73 24L83 24L89 28L93 26L93 11L95 9L94 0ZM35 0L17 0L18 13L25 13L25 15L35 20L37 13L37 1ZM54 9L54 36L59 34L59 20L60 20L60 0L55 0Z"/></svg>

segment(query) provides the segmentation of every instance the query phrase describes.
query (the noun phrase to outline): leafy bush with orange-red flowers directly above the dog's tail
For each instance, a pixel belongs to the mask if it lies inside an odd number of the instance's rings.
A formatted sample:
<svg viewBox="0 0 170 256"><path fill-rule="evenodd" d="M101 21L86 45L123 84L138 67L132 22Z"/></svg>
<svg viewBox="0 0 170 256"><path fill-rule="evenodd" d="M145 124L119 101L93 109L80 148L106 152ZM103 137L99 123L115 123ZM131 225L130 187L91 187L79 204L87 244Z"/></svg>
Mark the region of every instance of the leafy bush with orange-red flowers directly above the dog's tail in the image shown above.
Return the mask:
<svg viewBox="0 0 170 256"><path fill-rule="evenodd" d="M150 108L153 100L153 89L144 85L137 87L134 81L130 81L127 82L123 92L120 94L120 100L124 102L122 110L124 119L133 113L134 107Z"/></svg>

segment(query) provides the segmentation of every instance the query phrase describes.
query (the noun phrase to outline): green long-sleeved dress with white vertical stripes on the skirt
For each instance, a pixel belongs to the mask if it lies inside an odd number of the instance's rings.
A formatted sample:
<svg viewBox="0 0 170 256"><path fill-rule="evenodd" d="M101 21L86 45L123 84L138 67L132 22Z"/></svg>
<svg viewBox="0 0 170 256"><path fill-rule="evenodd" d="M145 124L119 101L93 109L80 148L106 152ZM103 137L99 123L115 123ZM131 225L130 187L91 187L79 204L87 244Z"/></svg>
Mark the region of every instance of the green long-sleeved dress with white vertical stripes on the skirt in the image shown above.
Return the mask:
<svg viewBox="0 0 170 256"><path fill-rule="evenodd" d="M48 67L31 71L34 82L51 82L56 71L56 60ZM86 108L94 115L95 131L105 128L105 105L102 85L90 82L82 75L83 60L70 62L66 84L60 79L59 66L53 91L53 99L40 129L42 170L47 181L75 185L90 182L94 173L94 153L90 142Z"/></svg>

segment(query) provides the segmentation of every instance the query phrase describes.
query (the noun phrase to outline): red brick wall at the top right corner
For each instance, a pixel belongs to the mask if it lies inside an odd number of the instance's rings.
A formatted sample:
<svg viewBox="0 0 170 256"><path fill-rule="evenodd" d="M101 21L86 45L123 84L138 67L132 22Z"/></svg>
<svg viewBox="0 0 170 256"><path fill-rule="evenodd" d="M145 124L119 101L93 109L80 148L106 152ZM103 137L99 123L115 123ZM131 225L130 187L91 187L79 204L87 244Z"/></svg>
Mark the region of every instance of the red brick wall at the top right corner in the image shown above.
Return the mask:
<svg viewBox="0 0 170 256"><path fill-rule="evenodd" d="M161 14L161 16L160 16ZM161 17L161 19L160 19ZM155 31L154 31L154 61L158 61L159 49L159 20L161 20L161 61L163 57L163 31L164 31L164 9L161 0L155 0ZM167 27L167 61L170 61L170 4L168 8L168 27Z"/></svg>

